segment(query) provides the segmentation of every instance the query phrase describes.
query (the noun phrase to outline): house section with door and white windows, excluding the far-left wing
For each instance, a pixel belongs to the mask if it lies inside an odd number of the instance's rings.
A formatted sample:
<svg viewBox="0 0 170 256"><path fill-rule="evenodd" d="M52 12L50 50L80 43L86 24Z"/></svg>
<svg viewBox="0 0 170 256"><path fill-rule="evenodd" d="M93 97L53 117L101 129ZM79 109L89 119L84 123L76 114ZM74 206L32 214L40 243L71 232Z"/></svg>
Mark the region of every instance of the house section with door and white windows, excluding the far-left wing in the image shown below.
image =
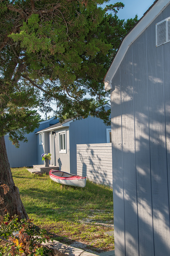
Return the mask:
<svg viewBox="0 0 170 256"><path fill-rule="evenodd" d="M105 109L110 109L105 104ZM51 127L36 132L39 138L37 153L38 164L42 163L42 150L52 154L51 165L59 166L59 170L77 173L76 144L93 144L111 142L111 126L106 126L96 117L86 119L65 120Z"/></svg>

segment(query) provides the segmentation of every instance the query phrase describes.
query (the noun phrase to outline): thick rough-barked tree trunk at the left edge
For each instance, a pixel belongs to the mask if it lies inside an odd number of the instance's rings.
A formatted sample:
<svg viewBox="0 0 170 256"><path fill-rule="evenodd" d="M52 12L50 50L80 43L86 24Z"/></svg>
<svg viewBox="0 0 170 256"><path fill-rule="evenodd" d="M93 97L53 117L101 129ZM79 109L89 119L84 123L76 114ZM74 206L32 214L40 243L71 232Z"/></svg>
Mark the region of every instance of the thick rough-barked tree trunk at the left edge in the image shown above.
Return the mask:
<svg viewBox="0 0 170 256"><path fill-rule="evenodd" d="M9 186L9 191L6 194L4 194L3 184ZM19 189L15 187L13 181L4 137L0 137L0 185L0 196L4 199L3 203L0 204L0 214L4 215L9 212L10 217L17 214L19 220L24 218L28 219L28 215L20 199Z"/></svg>

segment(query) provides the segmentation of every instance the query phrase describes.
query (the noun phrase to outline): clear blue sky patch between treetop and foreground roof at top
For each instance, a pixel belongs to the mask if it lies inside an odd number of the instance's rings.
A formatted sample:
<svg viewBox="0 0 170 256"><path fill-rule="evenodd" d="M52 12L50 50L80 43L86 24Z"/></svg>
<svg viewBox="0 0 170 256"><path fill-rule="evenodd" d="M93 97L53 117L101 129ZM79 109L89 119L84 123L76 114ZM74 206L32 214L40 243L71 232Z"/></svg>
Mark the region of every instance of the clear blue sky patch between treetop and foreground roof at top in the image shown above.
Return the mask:
<svg viewBox="0 0 170 256"><path fill-rule="evenodd" d="M111 0L107 4L114 4L116 2L124 3L125 7L118 11L118 17L126 21L128 18L134 18L136 14L138 14L138 19L140 19L153 4L154 0Z"/></svg>

